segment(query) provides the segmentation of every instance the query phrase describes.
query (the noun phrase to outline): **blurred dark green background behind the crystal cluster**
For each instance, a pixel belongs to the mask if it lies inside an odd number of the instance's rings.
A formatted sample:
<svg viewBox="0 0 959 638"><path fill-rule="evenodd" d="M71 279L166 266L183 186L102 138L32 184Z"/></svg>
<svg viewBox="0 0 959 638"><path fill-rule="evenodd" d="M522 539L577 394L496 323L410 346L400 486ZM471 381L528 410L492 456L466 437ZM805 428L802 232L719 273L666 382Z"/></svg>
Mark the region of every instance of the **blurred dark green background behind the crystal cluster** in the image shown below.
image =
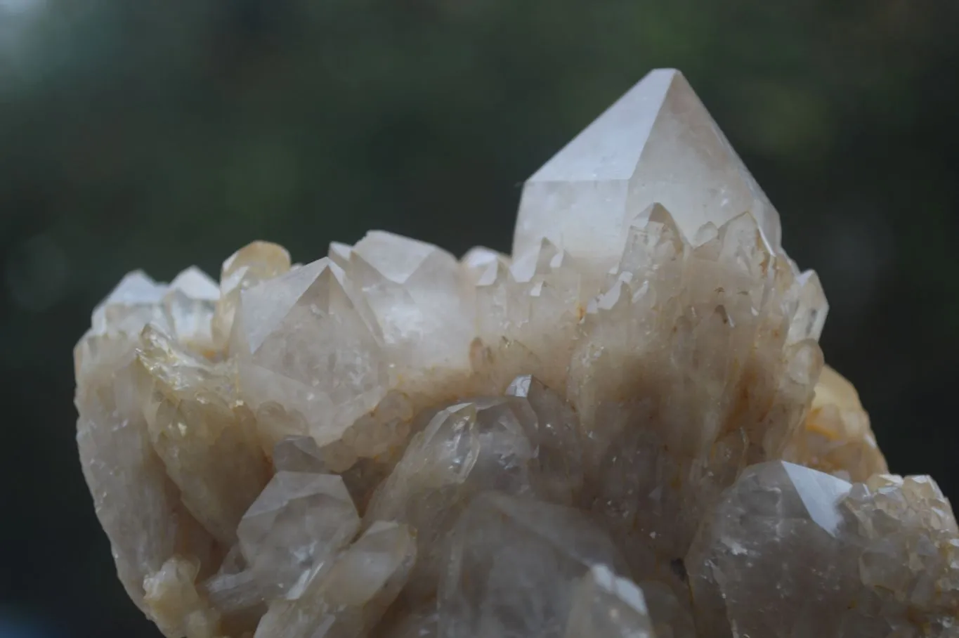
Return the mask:
<svg viewBox="0 0 959 638"><path fill-rule="evenodd" d="M657 66L820 272L894 471L959 496L959 3L0 0L0 638L158 635L74 441L71 349L125 272L370 227L506 250L522 181Z"/></svg>

